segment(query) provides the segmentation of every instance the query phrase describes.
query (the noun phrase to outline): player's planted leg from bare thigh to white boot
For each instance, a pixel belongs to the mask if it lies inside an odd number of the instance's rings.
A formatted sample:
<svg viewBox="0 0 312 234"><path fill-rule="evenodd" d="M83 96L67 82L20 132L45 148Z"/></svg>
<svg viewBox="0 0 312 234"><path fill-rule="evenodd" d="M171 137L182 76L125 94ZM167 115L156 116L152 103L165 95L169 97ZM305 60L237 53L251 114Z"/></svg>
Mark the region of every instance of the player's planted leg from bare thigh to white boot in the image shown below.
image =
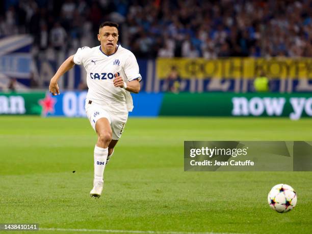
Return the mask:
<svg viewBox="0 0 312 234"><path fill-rule="evenodd" d="M95 123L97 142L94 147L94 181L91 196L99 197L103 190L103 173L108 156L108 147L112 140L112 129L107 118L100 118Z"/></svg>

